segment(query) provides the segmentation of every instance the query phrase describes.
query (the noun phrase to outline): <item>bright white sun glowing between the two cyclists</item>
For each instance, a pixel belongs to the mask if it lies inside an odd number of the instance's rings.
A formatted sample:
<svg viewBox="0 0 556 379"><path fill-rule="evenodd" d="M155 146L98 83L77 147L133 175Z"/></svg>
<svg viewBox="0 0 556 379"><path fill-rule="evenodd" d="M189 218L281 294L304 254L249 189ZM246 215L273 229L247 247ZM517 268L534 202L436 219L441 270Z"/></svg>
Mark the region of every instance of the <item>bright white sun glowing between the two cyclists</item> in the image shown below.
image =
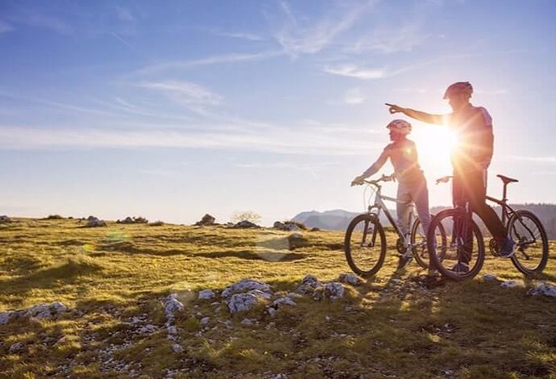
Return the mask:
<svg viewBox="0 0 556 379"><path fill-rule="evenodd" d="M417 145L420 166L425 175L451 175L450 154L457 145L457 135L444 126L423 125L413 129L409 139Z"/></svg>

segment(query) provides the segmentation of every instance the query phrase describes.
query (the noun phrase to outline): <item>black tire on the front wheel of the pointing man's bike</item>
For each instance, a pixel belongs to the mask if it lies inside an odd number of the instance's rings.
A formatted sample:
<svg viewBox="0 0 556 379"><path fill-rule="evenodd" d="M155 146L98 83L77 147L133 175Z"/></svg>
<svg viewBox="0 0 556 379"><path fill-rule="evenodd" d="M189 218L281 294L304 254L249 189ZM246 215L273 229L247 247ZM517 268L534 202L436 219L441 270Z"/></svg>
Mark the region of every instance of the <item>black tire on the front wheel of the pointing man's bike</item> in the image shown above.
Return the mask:
<svg viewBox="0 0 556 379"><path fill-rule="evenodd" d="M436 267L436 270L438 270L442 276L447 277L450 280L459 282L461 280L471 279L475 277L475 275L477 275L479 271L481 271L481 268L484 264L484 241L481 230L479 229L475 221L470 220L471 231L475 235L477 243L477 257L475 259L475 264L467 273L455 273L454 271L451 271L450 269L443 266L442 262L445 261L446 257L448 256L448 253L444 251L447 250L448 244L443 245L441 257L439 257L439 255L436 253L436 246L433 242L436 241L435 230L437 227L439 227L439 225L442 225L443 220L447 218L454 219L457 217L460 216L457 214L457 211L455 209L445 209L432 218L429 230L427 232L427 249L429 250L429 257L432 261L432 264L434 264L434 266ZM443 230L445 231L444 227ZM473 243L475 243L475 240L473 240ZM459 259L459 252L457 252L457 254Z"/></svg>

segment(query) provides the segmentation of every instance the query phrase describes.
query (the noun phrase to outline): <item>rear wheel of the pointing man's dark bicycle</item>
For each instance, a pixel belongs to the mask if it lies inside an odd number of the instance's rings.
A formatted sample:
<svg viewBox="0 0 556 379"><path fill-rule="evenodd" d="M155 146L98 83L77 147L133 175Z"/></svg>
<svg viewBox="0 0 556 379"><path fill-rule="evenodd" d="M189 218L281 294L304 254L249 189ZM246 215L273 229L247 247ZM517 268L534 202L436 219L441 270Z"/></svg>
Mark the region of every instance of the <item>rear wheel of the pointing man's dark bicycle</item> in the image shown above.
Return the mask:
<svg viewBox="0 0 556 379"><path fill-rule="evenodd" d="M530 211L516 211L508 222L508 233L516 242L512 263L525 275L541 273L548 261L546 231Z"/></svg>

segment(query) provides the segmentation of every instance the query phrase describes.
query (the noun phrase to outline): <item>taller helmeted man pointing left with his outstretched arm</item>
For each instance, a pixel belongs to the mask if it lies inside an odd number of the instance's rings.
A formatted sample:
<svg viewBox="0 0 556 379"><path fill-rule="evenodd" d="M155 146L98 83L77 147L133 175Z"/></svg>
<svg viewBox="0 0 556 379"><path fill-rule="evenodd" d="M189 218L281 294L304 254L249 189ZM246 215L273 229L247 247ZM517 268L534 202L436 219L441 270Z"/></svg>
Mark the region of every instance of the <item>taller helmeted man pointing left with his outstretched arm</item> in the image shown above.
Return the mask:
<svg viewBox="0 0 556 379"><path fill-rule="evenodd" d="M494 239L500 246L501 257L512 257L515 243L508 236L496 212L486 204L486 170L489 168L493 154L492 119L482 106L473 106L469 99L473 87L468 81L459 81L450 85L444 99L452 107L448 115L433 115L411 108L402 108L395 104L389 106L390 113L404 113L416 120L429 124L445 124L458 134L458 143L452 152L454 182L452 197L457 202L461 197L468 198L471 208L484 221ZM467 261L459 261L452 269L457 272L469 271Z"/></svg>

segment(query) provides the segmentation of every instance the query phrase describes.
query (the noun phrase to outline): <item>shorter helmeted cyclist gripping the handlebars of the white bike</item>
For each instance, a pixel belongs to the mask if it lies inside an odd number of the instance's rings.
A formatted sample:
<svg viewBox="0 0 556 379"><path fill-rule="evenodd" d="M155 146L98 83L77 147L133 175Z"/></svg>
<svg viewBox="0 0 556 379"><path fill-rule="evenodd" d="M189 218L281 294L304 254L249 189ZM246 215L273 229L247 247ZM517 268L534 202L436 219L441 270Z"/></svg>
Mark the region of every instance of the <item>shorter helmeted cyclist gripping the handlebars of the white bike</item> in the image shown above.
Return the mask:
<svg viewBox="0 0 556 379"><path fill-rule="evenodd" d="M353 179L352 186L363 184L363 179L377 173L384 166L384 163L390 159L394 167L394 174L391 179L398 179L399 183L398 200L401 202L396 203L396 213L398 213L400 230L404 235L409 232L410 204L414 202L423 231L426 233L430 224L429 191L425 175L423 175L423 170L419 166L415 143L407 138L407 135L411 133L411 124L405 120L393 120L386 128L389 129L392 143L384 148L375 163ZM399 267L405 266L411 258L411 252L409 251L402 255Z"/></svg>

